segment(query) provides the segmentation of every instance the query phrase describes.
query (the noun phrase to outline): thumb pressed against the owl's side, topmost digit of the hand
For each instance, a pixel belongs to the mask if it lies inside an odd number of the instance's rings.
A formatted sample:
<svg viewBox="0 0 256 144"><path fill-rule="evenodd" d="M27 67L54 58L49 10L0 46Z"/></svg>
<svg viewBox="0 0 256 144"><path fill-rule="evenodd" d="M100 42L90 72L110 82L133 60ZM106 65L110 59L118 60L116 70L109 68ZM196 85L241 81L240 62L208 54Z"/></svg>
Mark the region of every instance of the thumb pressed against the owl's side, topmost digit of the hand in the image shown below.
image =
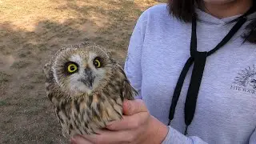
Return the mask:
<svg viewBox="0 0 256 144"><path fill-rule="evenodd" d="M133 115L139 112L147 112L145 103L141 99L136 99L133 101L125 100L123 102L123 113L125 115Z"/></svg>

